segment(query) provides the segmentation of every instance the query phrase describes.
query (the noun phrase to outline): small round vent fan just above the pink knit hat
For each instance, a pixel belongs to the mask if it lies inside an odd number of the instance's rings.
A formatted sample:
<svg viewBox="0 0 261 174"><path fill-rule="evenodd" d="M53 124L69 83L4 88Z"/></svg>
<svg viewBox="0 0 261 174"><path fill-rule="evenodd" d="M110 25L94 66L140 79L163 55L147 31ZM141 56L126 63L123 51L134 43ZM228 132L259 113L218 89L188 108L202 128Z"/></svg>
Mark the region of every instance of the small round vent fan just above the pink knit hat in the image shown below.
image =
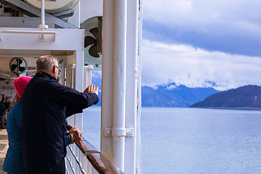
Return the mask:
<svg viewBox="0 0 261 174"><path fill-rule="evenodd" d="M27 68L27 63L22 57L15 57L10 61L9 68L11 72L19 76L19 74L22 74L25 72Z"/></svg>

